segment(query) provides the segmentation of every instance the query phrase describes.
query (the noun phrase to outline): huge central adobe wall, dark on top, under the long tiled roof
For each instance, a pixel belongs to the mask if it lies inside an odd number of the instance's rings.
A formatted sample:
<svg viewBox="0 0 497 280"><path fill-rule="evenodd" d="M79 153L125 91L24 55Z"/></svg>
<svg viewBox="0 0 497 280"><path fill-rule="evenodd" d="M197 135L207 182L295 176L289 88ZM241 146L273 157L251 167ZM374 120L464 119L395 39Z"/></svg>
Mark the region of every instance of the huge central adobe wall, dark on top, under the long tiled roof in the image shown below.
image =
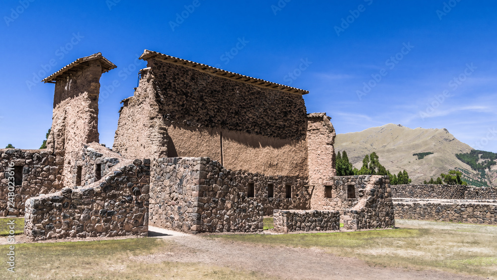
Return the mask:
<svg viewBox="0 0 497 280"><path fill-rule="evenodd" d="M157 59L148 66L135 95L124 100L114 151L141 158L203 156L231 170L307 178L302 95Z"/></svg>

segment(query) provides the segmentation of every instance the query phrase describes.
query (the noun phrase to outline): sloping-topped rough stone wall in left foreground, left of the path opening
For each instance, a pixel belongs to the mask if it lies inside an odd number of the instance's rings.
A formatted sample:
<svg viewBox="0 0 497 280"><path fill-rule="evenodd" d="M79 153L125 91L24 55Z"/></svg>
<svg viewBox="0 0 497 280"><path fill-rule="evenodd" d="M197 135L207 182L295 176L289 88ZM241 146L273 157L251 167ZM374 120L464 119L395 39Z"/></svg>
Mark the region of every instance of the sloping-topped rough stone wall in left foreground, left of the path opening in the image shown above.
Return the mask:
<svg viewBox="0 0 497 280"><path fill-rule="evenodd" d="M26 201L24 233L33 241L148 234L150 162L135 160L85 188Z"/></svg>

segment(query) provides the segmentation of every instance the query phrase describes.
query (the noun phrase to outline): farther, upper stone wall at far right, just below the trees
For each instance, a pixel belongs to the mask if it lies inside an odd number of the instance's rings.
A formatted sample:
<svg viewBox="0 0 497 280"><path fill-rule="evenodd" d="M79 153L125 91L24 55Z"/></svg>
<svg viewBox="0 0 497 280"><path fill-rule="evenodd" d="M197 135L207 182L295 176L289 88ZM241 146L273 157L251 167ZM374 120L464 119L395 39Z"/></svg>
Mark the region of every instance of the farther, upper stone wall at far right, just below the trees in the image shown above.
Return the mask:
<svg viewBox="0 0 497 280"><path fill-rule="evenodd" d="M395 198L425 199L496 199L497 187L462 185L397 185L392 186Z"/></svg>

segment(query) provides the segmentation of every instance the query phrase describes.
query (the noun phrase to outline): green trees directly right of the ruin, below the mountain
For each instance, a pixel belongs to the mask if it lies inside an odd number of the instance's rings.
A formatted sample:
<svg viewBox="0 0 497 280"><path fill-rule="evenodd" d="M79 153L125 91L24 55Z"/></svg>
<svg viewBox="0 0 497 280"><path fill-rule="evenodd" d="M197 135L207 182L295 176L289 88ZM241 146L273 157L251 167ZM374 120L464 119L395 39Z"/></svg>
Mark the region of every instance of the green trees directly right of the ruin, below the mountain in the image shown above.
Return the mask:
<svg viewBox="0 0 497 280"><path fill-rule="evenodd" d="M380 164L379 157L375 152L364 157L361 169L352 166L346 151L343 151L342 154L338 152L335 159L336 176L388 175L390 177L391 185L408 185L412 182L405 170L403 172L399 171L397 175L391 174L389 170Z"/></svg>

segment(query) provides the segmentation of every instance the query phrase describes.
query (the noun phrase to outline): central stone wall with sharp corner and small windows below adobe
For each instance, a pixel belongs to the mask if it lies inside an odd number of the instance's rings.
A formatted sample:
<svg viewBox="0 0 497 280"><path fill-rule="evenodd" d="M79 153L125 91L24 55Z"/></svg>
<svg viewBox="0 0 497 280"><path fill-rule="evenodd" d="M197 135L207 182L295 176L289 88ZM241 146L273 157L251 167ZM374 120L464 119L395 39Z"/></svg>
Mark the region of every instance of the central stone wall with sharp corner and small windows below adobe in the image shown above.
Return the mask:
<svg viewBox="0 0 497 280"><path fill-rule="evenodd" d="M262 216L273 209L308 209L306 183L230 171L209 158L159 159L152 166L151 225L185 232L258 231Z"/></svg>

